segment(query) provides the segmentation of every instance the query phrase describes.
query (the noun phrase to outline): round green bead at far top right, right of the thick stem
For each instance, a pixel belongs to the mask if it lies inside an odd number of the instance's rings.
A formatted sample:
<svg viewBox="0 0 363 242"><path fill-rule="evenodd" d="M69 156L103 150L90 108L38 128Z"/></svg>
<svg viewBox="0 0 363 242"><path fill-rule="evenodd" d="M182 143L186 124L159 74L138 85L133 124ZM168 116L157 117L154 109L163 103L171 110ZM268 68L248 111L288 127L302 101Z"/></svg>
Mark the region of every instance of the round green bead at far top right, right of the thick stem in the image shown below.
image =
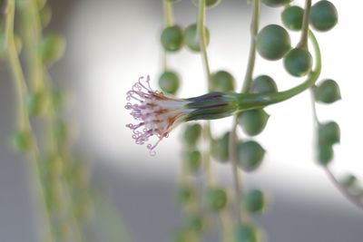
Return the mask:
<svg viewBox="0 0 363 242"><path fill-rule="evenodd" d="M329 31L338 23L338 11L329 1L319 1L312 5L310 24L318 31Z"/></svg>

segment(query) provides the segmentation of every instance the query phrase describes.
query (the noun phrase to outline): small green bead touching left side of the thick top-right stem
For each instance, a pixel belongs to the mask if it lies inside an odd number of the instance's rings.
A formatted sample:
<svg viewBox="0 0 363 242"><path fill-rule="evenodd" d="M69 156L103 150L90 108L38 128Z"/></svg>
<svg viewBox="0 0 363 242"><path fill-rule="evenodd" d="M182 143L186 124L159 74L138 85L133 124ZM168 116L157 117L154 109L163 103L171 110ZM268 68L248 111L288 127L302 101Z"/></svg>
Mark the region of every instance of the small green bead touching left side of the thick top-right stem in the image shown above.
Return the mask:
<svg viewBox="0 0 363 242"><path fill-rule="evenodd" d="M282 23L290 30L301 30L304 9L297 5L288 6L281 14Z"/></svg>

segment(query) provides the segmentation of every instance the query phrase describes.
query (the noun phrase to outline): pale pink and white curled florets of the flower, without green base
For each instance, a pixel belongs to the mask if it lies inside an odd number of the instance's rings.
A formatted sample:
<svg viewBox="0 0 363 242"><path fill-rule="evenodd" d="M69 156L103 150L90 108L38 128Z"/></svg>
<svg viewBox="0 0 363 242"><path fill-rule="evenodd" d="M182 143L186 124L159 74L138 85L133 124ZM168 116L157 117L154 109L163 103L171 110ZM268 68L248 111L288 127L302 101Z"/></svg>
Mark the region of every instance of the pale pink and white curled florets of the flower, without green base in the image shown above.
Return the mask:
<svg viewBox="0 0 363 242"><path fill-rule="evenodd" d="M132 117L139 121L137 124L129 123L126 127L132 130L132 139L136 144L144 144L149 138L156 136L158 140L147 145L150 154L155 154L155 147L170 131L185 121L192 109L186 108L190 103L186 100L169 97L162 92L153 91L150 86L149 75L146 81L140 77L138 82L127 92L128 101L125 109L130 110Z"/></svg>

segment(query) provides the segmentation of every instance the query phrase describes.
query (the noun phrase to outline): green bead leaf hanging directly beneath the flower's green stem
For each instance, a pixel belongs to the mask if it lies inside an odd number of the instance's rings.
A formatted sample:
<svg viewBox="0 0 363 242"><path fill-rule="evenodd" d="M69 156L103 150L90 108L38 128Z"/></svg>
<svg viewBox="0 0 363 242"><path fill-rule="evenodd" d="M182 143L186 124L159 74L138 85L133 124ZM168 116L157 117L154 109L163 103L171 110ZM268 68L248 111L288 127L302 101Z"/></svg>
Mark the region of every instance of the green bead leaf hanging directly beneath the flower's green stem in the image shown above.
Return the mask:
<svg viewBox="0 0 363 242"><path fill-rule="evenodd" d="M269 118L270 115L263 109L255 109L240 112L238 122L245 133L255 136L265 129Z"/></svg>

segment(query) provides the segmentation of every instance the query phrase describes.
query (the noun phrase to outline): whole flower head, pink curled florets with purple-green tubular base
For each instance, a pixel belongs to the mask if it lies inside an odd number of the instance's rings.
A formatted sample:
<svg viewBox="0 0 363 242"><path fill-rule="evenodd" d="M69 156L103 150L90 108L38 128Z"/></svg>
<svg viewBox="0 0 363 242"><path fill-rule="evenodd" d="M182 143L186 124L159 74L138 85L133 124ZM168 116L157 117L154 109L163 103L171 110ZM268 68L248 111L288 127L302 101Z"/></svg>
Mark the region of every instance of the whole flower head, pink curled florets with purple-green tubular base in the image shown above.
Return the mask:
<svg viewBox="0 0 363 242"><path fill-rule="evenodd" d="M138 123L129 123L132 138L137 144L148 142L152 136L155 143L148 143L152 155L155 147L176 126L184 121L214 120L230 116L238 109L235 93L211 92L190 99L177 99L162 92L153 91L150 77L140 77L127 92L125 108L130 110Z"/></svg>

